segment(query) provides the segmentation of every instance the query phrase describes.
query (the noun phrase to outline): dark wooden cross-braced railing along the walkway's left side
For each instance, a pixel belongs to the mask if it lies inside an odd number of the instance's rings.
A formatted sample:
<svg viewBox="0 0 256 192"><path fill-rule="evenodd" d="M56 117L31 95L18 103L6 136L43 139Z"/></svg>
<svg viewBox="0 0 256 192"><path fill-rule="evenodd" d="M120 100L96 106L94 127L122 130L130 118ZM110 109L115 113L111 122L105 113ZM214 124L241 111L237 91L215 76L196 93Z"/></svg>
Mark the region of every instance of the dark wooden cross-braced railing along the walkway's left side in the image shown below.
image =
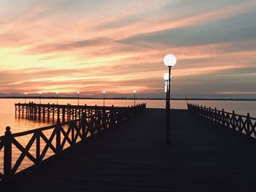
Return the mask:
<svg viewBox="0 0 256 192"><path fill-rule="evenodd" d="M61 123L58 118L53 126L15 134L12 134L10 127L7 127L5 135L0 137L0 154L4 157L0 179L8 180L18 172L26 171L22 165L25 158L26 164L28 162L31 164L29 169L39 166L49 157L59 155L86 138L113 128L145 109L146 104L138 104L134 107L112 107L108 108L108 111L100 108L94 113L83 112L82 117L77 120ZM20 137L26 137L25 142L24 140L20 142ZM20 152L15 160L12 154L14 148Z"/></svg>

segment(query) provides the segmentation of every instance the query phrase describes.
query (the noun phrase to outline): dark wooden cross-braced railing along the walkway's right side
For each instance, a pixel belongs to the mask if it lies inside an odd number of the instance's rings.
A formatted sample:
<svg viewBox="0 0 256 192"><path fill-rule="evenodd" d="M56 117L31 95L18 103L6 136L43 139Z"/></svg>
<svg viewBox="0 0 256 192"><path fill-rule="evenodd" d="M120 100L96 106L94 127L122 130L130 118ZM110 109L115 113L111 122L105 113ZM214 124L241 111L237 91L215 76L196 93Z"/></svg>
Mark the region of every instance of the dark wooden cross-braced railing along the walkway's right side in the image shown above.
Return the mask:
<svg viewBox="0 0 256 192"><path fill-rule="evenodd" d="M223 109L217 110L216 107L211 109L211 107L207 108L206 106L203 107L197 104L187 104L187 108L190 112L213 120L222 126L233 128L249 137L256 137L256 118L250 117L249 113L247 115L238 115L235 111L225 112Z"/></svg>

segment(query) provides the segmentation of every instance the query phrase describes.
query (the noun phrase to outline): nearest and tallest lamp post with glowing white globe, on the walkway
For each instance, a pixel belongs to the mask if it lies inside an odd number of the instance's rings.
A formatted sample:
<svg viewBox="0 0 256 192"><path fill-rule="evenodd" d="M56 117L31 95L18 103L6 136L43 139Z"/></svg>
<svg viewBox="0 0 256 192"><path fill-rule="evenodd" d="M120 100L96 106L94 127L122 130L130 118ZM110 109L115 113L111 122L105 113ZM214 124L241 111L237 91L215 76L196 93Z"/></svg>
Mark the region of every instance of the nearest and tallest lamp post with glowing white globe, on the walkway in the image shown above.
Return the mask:
<svg viewBox="0 0 256 192"><path fill-rule="evenodd" d="M164 58L165 66L168 67L168 82L167 82L167 110L166 110L166 143L170 145L170 69L176 64L175 55L168 54Z"/></svg>

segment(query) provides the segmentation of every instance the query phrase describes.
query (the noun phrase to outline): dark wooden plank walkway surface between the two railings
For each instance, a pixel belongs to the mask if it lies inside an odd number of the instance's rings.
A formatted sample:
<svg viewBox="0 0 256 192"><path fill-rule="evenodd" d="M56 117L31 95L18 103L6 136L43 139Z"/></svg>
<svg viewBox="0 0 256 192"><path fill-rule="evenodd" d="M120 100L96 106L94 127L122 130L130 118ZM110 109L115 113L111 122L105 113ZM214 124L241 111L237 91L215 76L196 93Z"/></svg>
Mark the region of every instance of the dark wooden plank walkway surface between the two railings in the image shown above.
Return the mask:
<svg viewBox="0 0 256 192"><path fill-rule="evenodd" d="M147 109L0 191L255 191L256 140L187 110Z"/></svg>

